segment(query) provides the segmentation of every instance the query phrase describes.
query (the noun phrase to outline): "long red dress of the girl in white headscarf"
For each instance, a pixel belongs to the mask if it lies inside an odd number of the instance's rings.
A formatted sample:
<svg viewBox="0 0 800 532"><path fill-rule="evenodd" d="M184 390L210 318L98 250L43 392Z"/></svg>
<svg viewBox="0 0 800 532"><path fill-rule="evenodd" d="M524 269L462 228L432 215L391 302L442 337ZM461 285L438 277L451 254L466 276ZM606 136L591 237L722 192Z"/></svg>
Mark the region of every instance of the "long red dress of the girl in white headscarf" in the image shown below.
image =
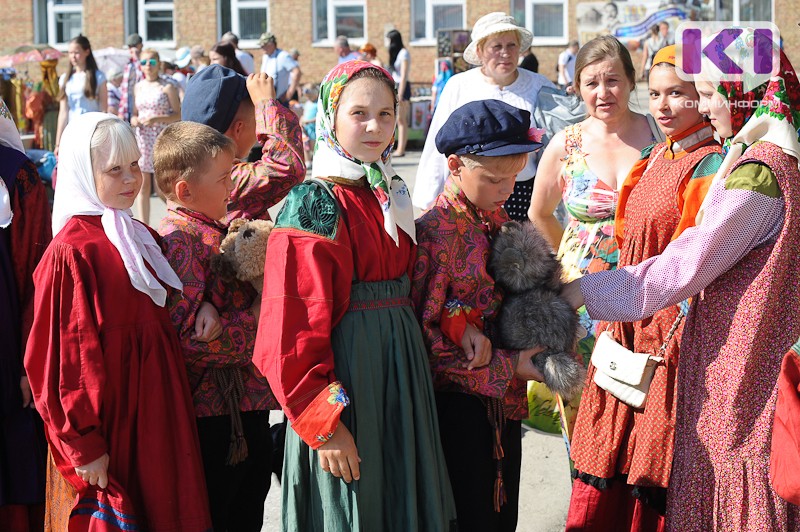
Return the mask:
<svg viewBox="0 0 800 532"><path fill-rule="evenodd" d="M69 520L88 530L209 530L191 394L168 309L132 286L100 216L67 222L34 283L25 369L61 473L49 474L46 528L66 530ZM74 468L104 453L109 485L101 490Z"/></svg>

